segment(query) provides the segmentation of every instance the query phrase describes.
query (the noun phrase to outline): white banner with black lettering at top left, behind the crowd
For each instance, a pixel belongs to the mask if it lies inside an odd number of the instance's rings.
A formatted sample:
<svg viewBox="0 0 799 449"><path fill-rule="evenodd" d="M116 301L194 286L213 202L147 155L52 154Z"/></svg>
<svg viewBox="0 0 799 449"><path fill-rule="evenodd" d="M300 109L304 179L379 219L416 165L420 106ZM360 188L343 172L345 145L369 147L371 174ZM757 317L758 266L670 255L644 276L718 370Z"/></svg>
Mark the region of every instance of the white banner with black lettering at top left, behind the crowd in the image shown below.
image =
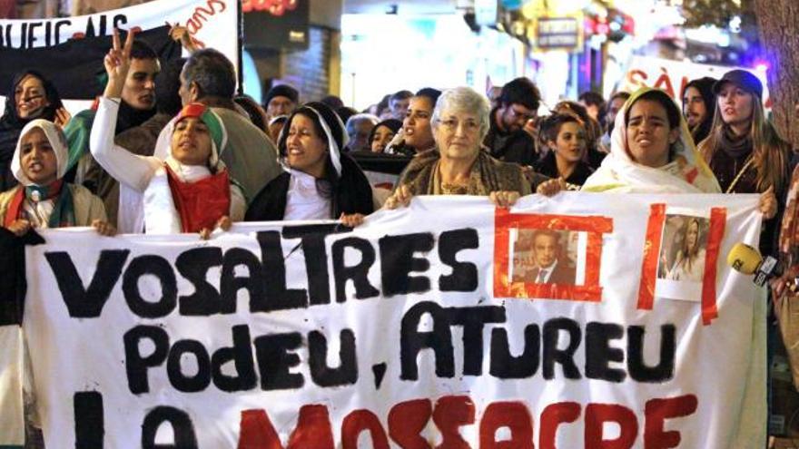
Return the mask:
<svg viewBox="0 0 799 449"><path fill-rule="evenodd" d="M238 5L233 0L154 0L94 15L55 19L0 20L0 47L27 49L63 44L73 37L109 36L113 28L149 30L164 23L181 24L201 48L219 50L239 68ZM0 97L0 110L5 97ZM70 112L89 102L66 102ZM2 112L2 111L0 111Z"/></svg>

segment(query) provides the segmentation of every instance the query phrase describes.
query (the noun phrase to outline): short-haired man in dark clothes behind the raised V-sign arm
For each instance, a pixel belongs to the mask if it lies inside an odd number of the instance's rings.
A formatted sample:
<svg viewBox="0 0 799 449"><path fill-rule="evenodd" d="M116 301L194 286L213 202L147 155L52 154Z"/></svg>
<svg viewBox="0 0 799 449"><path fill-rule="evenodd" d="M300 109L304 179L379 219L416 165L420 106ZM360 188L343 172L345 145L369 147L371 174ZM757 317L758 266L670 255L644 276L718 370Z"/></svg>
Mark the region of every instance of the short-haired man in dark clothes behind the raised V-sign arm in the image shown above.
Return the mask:
<svg viewBox="0 0 799 449"><path fill-rule="evenodd" d="M155 75L161 71L158 55L150 45L143 41L133 41L131 49L131 70L125 79L119 116L116 120L116 133L127 131L141 125L155 114ZM67 178L74 176L74 183L85 181L92 156L89 152L89 135L92 132L95 109L78 112L64 127L64 134L69 145L69 162ZM77 166L77 167L76 167ZM85 187L93 192L96 185L87 183Z"/></svg>

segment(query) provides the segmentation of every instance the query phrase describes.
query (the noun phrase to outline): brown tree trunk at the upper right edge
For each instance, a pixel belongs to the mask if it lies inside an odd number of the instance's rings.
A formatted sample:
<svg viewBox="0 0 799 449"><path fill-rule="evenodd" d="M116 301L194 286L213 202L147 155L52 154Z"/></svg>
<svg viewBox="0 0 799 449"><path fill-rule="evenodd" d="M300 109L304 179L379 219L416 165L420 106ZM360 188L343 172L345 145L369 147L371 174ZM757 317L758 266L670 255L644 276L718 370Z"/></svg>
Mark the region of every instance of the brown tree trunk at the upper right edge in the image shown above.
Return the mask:
<svg viewBox="0 0 799 449"><path fill-rule="evenodd" d="M760 38L769 63L774 125L783 138L799 150L799 2L755 0Z"/></svg>

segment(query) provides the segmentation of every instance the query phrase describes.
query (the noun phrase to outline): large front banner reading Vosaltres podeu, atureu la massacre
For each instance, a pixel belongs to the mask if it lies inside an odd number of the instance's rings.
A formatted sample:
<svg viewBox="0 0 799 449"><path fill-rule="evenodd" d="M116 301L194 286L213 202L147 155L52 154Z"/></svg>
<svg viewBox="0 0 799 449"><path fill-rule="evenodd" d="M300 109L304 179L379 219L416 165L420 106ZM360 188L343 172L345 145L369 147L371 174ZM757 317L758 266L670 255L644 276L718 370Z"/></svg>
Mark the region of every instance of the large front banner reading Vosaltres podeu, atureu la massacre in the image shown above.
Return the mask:
<svg viewBox="0 0 799 449"><path fill-rule="evenodd" d="M756 202L421 197L353 231L46 231L24 321L45 443L759 447L764 291L725 266L756 245Z"/></svg>

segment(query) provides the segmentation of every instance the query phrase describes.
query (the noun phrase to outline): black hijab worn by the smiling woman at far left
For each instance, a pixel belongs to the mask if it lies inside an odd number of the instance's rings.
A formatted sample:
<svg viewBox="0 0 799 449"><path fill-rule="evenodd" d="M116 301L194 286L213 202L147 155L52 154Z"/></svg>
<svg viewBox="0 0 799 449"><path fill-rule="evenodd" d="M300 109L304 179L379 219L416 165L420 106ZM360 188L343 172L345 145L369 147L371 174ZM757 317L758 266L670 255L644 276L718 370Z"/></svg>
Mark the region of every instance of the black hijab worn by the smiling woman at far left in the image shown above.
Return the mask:
<svg viewBox="0 0 799 449"><path fill-rule="evenodd" d="M29 119L19 117L15 102L16 86L22 83L26 76L34 76L42 82L44 97L50 102L49 105L44 107L44 111L39 116ZM10 169L11 159L14 157L16 142L19 140L19 134L25 124L35 119L44 119L52 122L55 119L55 111L61 107L64 107L64 104L61 102L58 91L55 90L53 83L44 78L42 73L38 73L35 70L25 70L14 75L14 79L11 81L11 89L8 91L8 96L5 97L5 112L0 117L0 191L11 189L16 185L16 180Z"/></svg>

